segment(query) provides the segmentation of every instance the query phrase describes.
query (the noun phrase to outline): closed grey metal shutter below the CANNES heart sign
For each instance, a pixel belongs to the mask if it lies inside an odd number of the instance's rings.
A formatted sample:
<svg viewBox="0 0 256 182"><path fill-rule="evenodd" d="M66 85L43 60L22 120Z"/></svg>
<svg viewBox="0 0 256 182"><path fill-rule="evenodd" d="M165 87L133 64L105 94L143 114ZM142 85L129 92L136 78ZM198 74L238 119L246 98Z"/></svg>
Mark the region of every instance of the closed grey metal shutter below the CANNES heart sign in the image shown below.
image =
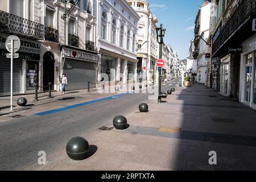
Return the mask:
<svg viewBox="0 0 256 182"><path fill-rule="evenodd" d="M88 81L93 82L90 88L96 88L97 63L66 59L64 73L67 76L67 90L88 89Z"/></svg>

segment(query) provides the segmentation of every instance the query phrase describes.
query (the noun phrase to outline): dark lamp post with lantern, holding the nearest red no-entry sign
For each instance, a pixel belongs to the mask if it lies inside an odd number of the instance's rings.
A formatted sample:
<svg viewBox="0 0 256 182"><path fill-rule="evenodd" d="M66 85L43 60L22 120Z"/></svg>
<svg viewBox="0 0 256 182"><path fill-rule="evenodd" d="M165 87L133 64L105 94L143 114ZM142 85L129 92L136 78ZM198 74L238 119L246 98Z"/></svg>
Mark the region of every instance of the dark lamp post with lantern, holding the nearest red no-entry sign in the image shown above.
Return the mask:
<svg viewBox="0 0 256 182"><path fill-rule="evenodd" d="M163 49L163 37L166 34L166 29L163 29L163 24L160 24L160 27L156 28L156 37L159 43L159 59L162 59L162 49ZM159 72L159 88L158 88L158 96L161 93L161 75L162 75L162 68L158 67ZM160 102L158 100L158 102Z"/></svg>

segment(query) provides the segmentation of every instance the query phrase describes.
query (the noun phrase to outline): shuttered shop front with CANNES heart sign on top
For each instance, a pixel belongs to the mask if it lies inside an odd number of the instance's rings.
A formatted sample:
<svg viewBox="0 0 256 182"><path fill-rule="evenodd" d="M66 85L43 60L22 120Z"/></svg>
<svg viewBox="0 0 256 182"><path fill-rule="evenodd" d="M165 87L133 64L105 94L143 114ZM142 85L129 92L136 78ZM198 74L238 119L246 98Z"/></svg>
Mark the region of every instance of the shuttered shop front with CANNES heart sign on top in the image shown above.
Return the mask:
<svg viewBox="0 0 256 182"><path fill-rule="evenodd" d="M95 52L75 49L73 47L61 47L61 73L65 73L68 80L67 90L96 88L98 55Z"/></svg>

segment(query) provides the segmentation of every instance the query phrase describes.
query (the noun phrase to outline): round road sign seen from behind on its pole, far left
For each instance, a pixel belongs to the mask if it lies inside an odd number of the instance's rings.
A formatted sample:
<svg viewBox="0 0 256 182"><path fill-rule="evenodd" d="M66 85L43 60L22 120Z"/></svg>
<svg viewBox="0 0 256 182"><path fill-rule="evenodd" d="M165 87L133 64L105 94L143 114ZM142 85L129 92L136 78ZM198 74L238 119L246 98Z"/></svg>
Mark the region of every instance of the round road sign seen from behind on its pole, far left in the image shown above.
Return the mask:
<svg viewBox="0 0 256 182"><path fill-rule="evenodd" d="M5 47L7 51L10 52L6 54L6 57L11 58L11 111L13 111L13 59L19 57L19 54L15 53L20 48L20 40L18 36L10 35L6 39Z"/></svg>

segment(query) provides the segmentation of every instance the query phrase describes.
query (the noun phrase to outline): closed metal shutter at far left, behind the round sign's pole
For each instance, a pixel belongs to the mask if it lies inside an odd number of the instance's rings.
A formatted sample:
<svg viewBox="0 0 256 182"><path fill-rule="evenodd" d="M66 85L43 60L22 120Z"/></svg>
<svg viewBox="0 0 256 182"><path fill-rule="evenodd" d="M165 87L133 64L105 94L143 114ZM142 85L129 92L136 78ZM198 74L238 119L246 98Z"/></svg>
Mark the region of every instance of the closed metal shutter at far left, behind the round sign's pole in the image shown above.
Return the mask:
<svg viewBox="0 0 256 182"><path fill-rule="evenodd" d="M13 61L13 94L22 93L22 60ZM0 60L0 96L11 94L11 60Z"/></svg>

